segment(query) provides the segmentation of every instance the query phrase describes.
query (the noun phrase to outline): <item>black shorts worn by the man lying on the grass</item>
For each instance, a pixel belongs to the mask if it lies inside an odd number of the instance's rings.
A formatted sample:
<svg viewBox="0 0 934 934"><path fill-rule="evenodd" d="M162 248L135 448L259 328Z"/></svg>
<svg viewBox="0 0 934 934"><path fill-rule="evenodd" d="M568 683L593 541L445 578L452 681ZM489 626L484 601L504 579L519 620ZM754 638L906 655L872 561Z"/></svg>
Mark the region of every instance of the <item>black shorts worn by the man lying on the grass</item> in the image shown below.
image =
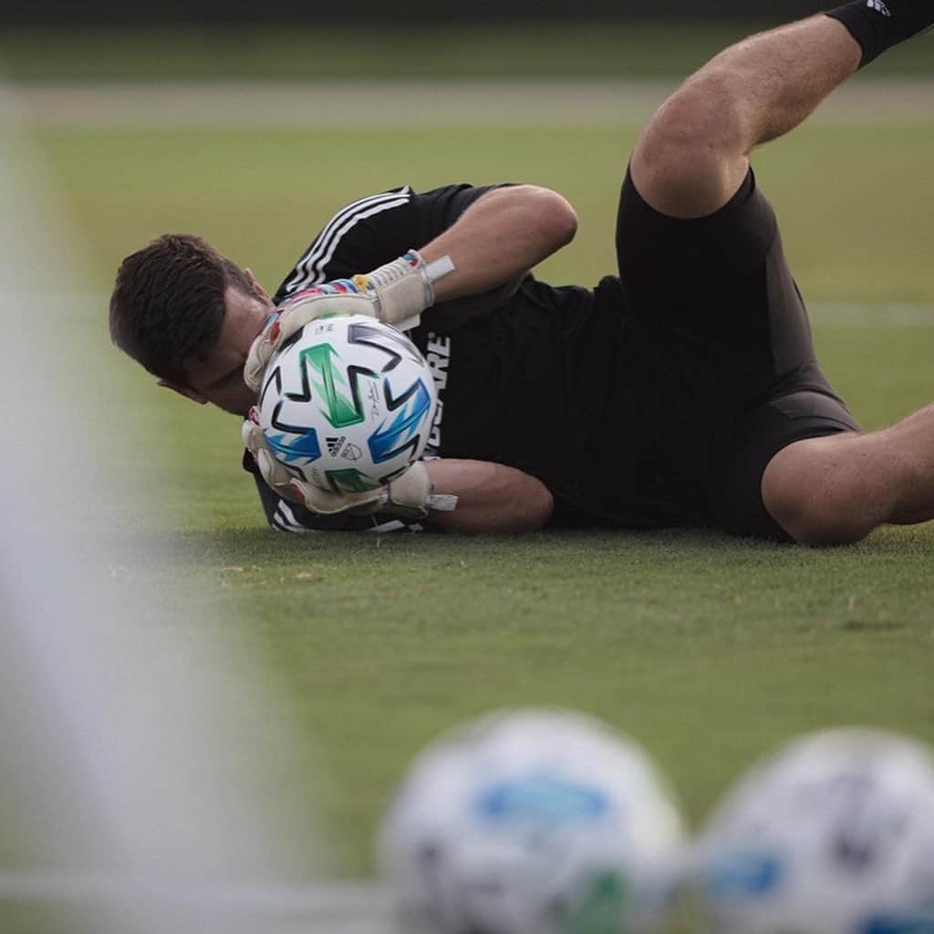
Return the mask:
<svg viewBox="0 0 934 934"><path fill-rule="evenodd" d="M701 521L787 540L762 502L769 461L803 438L860 429L815 360L755 176L709 217L674 219L627 174L616 254L630 371L676 495Z"/></svg>

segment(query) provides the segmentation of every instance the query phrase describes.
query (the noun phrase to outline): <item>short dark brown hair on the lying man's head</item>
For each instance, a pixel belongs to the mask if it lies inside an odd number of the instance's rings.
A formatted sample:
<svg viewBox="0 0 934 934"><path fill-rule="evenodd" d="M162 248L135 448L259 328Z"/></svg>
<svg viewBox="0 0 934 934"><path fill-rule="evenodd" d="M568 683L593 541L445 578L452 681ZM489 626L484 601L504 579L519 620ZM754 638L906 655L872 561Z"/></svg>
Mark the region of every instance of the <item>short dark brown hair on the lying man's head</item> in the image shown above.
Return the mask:
<svg viewBox="0 0 934 934"><path fill-rule="evenodd" d="M242 269L190 233L166 233L120 263L110 296L110 339L152 375L188 385L185 361L217 346Z"/></svg>

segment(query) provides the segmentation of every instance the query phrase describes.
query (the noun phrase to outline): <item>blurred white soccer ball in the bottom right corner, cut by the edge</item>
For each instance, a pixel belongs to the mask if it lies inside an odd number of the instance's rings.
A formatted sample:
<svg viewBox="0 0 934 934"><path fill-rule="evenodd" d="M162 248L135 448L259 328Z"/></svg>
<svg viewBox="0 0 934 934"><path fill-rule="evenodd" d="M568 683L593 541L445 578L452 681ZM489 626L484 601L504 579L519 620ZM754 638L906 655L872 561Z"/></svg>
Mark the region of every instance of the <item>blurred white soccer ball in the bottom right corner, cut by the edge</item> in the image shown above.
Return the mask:
<svg viewBox="0 0 934 934"><path fill-rule="evenodd" d="M934 932L934 757L839 729L751 771L698 846L717 934Z"/></svg>

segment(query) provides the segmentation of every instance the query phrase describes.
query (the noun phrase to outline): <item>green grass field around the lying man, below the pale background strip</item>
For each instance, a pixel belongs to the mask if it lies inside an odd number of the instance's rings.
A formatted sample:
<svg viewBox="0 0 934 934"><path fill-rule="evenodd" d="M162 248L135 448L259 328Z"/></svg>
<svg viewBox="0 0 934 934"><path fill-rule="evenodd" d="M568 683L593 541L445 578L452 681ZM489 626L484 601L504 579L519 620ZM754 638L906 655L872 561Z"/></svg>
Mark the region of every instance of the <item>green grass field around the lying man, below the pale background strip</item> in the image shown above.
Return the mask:
<svg viewBox="0 0 934 934"><path fill-rule="evenodd" d="M523 538L276 536L238 468L238 423L151 388L107 345L106 290L163 230L203 233L267 286L349 198L410 183L529 180L582 227L542 276L613 268L616 192L637 128L389 132L47 132L37 137L86 249L73 337L112 381L133 515L102 517L114 587L160 585L170 625L219 601L228 635L289 686L318 741L333 871L370 869L379 809L438 730L500 705L601 715L656 754L697 822L753 757L836 724L934 741L934 527L810 551L717 533ZM828 374L868 427L934 399L934 119L804 128L763 151ZM821 323L820 308L853 315ZM885 325L856 305L909 304ZM927 306L927 310L924 306ZM845 310L845 309L844 309ZM149 464L177 465L171 486ZM151 568L143 545L170 559ZM311 767L309 761L309 768Z"/></svg>

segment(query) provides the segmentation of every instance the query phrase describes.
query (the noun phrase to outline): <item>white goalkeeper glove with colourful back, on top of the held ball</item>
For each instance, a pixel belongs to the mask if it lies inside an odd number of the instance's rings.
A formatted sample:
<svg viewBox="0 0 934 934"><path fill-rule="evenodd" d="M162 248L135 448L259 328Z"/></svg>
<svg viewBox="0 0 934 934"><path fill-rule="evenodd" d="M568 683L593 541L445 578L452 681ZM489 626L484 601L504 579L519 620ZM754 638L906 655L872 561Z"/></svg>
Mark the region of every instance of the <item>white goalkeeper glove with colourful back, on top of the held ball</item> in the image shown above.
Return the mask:
<svg viewBox="0 0 934 934"><path fill-rule="evenodd" d="M433 282L454 269L445 256L425 262L414 249L372 273L352 279L334 279L298 292L276 309L249 348L244 379L259 392L262 374L279 347L315 318L327 315L369 315L407 331L417 327L419 316L434 304Z"/></svg>

